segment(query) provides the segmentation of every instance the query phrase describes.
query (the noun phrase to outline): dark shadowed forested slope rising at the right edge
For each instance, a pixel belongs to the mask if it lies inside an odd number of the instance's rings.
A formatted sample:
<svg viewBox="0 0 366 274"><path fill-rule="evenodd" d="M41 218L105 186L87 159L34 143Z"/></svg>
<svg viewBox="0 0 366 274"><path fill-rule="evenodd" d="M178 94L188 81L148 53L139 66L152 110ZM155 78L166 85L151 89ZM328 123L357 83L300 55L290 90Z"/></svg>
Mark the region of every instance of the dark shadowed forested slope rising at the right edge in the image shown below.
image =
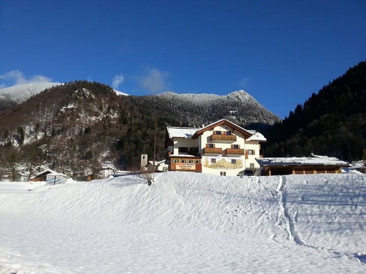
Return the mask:
<svg viewBox="0 0 366 274"><path fill-rule="evenodd" d="M289 117L273 125L265 156L366 158L366 62L313 93Z"/></svg>

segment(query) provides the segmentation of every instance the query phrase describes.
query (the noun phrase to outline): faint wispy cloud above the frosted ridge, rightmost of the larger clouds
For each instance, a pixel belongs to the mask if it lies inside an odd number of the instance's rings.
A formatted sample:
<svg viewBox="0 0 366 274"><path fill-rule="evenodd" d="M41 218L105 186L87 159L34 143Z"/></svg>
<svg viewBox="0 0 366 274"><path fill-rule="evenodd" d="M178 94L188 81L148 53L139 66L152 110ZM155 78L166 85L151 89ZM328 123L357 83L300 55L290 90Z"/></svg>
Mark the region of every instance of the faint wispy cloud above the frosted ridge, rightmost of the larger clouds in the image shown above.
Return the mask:
<svg viewBox="0 0 366 274"><path fill-rule="evenodd" d="M145 76L138 78L138 82L149 93L157 93L168 89L168 83L166 82L168 77L168 73L157 68L150 68Z"/></svg>

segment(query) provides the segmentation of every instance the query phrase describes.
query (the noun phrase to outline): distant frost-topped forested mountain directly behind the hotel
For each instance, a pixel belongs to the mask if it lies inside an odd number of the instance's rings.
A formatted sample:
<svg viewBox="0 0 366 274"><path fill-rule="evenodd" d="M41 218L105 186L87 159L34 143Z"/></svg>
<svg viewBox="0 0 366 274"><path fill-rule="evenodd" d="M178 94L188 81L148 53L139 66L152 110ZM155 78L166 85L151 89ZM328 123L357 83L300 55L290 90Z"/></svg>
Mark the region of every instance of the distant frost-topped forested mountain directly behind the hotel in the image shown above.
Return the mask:
<svg viewBox="0 0 366 274"><path fill-rule="evenodd" d="M280 121L277 115L243 90L228 95L164 92L132 96L131 99L141 113L156 110L176 126L199 127L202 123L209 124L225 118L245 128L261 130Z"/></svg>

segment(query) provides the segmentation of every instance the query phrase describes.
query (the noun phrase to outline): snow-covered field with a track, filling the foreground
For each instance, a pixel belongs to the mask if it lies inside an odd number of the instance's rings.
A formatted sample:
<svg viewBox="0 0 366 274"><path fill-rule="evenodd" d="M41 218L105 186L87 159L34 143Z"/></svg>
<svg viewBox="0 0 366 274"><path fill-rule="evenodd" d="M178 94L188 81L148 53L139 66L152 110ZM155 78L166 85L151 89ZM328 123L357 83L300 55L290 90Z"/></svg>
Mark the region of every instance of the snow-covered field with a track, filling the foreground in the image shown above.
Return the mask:
<svg viewBox="0 0 366 274"><path fill-rule="evenodd" d="M0 273L364 273L366 176L0 182Z"/></svg>

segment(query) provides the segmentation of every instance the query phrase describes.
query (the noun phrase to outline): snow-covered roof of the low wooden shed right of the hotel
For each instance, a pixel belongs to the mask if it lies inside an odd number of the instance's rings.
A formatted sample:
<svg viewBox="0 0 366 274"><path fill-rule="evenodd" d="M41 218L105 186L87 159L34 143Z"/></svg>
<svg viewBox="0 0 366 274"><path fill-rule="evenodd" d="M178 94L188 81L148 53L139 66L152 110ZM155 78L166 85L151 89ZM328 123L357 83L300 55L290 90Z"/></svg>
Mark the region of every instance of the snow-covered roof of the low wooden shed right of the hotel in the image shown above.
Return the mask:
<svg viewBox="0 0 366 274"><path fill-rule="evenodd" d="M256 158L261 166L269 165L337 165L349 166L348 162L333 157L289 157L289 158Z"/></svg>

